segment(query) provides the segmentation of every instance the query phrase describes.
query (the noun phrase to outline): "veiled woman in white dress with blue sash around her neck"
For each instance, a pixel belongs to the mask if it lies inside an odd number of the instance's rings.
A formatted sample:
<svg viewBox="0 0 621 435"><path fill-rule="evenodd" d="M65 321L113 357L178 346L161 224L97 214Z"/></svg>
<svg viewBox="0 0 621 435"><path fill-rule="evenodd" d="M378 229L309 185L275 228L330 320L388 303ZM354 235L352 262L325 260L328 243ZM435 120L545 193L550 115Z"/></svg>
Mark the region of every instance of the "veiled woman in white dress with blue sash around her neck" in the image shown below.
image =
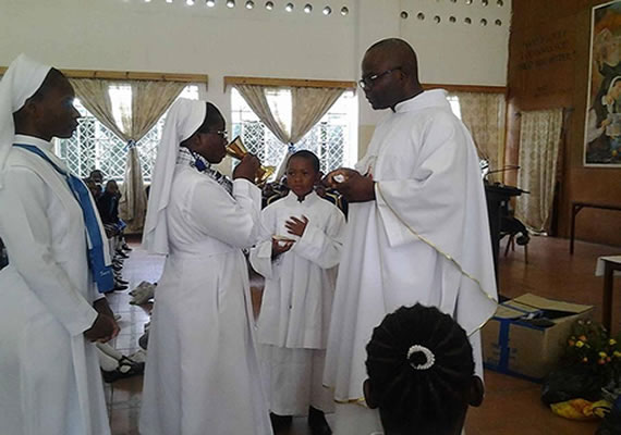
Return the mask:
<svg viewBox="0 0 621 435"><path fill-rule="evenodd" d="M77 126L73 98L58 70L23 54L0 82L0 238L9 254L0 271L0 433L7 435L110 434L88 343L119 332L98 291L113 285L105 232L86 186L51 144ZM108 287L94 281L105 275Z"/></svg>

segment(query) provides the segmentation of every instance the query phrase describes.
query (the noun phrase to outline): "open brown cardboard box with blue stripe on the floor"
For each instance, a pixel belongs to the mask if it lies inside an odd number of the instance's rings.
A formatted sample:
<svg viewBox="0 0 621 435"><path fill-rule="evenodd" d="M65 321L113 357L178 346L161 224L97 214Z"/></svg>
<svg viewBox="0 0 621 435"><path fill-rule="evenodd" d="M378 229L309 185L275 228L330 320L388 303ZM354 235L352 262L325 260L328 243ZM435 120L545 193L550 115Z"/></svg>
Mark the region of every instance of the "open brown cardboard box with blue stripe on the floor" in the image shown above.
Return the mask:
<svg viewBox="0 0 621 435"><path fill-rule="evenodd" d="M482 330L484 365L541 381L558 365L572 324L592 313L593 306L532 294L506 301Z"/></svg>

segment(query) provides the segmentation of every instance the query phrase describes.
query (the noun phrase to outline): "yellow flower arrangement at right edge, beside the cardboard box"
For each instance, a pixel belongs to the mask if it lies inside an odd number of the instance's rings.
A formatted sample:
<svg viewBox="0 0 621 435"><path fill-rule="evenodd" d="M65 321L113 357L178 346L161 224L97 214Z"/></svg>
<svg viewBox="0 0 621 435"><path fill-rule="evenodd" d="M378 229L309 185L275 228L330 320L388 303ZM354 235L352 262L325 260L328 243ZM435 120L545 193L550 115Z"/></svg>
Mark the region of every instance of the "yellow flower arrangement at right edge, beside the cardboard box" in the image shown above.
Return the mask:
<svg viewBox="0 0 621 435"><path fill-rule="evenodd" d="M621 335L612 338L601 324L579 320L567 345L565 363L597 376L605 386L620 386Z"/></svg>

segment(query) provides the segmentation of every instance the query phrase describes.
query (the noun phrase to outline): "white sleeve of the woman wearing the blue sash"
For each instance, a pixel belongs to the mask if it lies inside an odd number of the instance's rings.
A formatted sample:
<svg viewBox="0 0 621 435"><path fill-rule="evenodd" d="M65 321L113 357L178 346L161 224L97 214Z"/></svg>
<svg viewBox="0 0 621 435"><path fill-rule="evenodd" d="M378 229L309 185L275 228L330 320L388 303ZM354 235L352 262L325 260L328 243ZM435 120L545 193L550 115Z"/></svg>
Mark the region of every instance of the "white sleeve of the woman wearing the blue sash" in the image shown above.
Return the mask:
<svg viewBox="0 0 621 435"><path fill-rule="evenodd" d="M48 216L46 210L47 196L53 194L27 169L7 171L4 181L0 190L0 233L10 265L71 335L82 334L90 328L97 311L56 262L48 221L54 216Z"/></svg>

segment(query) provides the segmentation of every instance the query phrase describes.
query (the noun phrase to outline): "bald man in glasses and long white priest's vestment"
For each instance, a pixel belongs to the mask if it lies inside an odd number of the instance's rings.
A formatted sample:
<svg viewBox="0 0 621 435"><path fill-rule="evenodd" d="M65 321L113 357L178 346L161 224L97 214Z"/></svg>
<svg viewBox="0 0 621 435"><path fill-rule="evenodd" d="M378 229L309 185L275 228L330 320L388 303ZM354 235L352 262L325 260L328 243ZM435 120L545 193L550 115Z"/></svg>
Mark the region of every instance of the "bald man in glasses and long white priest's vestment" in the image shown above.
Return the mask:
<svg viewBox="0 0 621 435"><path fill-rule="evenodd" d="M324 377L340 403L364 403L373 328L417 302L460 323L483 378L479 328L497 304L485 192L468 130L443 90L423 91L407 42L372 46L362 72L372 107L390 112L355 171L327 176L350 201ZM379 430L374 411L337 406L336 435Z"/></svg>

